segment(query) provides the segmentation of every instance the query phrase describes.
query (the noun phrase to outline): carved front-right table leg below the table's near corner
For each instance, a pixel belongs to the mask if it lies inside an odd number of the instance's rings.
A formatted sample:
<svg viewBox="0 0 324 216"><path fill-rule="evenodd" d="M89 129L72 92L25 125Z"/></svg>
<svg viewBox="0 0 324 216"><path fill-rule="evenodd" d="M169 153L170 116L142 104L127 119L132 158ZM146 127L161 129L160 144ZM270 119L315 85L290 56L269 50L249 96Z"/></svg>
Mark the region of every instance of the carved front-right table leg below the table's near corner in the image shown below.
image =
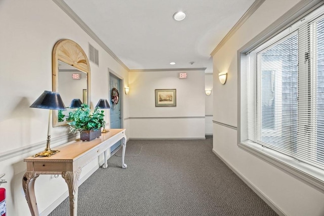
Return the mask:
<svg viewBox="0 0 324 216"><path fill-rule="evenodd" d="M62 172L62 178L65 180L69 189L70 199L70 215L76 216L77 212L77 190L78 180L81 174L81 167L78 167L75 171Z"/></svg>

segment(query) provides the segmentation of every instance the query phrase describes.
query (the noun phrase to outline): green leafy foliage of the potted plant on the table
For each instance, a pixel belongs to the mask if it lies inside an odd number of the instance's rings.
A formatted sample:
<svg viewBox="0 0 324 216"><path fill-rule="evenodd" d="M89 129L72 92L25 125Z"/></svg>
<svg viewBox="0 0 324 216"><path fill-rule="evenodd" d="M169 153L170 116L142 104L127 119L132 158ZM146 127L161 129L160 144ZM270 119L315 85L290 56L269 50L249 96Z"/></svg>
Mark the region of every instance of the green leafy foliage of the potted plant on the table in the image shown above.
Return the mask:
<svg viewBox="0 0 324 216"><path fill-rule="evenodd" d="M83 132L91 129L97 131L106 123L104 116L104 111L99 110L99 107L91 113L88 104L82 104L81 107L69 113L71 121L67 123L70 125L70 132L73 134L76 131Z"/></svg>

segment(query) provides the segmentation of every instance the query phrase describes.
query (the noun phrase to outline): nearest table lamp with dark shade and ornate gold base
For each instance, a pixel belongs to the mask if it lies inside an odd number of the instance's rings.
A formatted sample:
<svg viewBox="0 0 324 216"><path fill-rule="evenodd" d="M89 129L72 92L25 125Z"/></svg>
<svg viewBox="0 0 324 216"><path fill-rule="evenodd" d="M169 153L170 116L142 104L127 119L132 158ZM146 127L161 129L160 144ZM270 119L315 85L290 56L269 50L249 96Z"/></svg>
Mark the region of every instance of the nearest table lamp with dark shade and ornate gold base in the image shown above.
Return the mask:
<svg viewBox="0 0 324 216"><path fill-rule="evenodd" d="M57 92L50 92L50 91L44 91L41 96L39 96L32 105L30 105L32 108L41 108L41 109L49 109L49 125L47 130L47 143L46 148L44 151L39 152L33 157L37 156L48 156L50 157L53 154L56 154L57 152L60 152L59 150L52 150L50 148L51 144L51 127L52 127L52 113L53 109L55 110L66 110L64 103L61 99L61 96Z"/></svg>

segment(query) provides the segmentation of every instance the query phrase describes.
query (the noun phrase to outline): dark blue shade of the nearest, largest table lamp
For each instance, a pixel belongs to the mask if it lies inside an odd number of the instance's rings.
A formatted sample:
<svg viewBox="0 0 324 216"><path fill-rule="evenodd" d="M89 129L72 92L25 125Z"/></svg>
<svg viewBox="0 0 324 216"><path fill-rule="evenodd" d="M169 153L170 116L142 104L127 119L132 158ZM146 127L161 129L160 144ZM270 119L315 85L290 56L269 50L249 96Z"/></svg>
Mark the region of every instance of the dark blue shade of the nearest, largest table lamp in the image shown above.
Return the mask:
<svg viewBox="0 0 324 216"><path fill-rule="evenodd" d="M44 91L32 105L32 108L66 110L62 98L57 92Z"/></svg>

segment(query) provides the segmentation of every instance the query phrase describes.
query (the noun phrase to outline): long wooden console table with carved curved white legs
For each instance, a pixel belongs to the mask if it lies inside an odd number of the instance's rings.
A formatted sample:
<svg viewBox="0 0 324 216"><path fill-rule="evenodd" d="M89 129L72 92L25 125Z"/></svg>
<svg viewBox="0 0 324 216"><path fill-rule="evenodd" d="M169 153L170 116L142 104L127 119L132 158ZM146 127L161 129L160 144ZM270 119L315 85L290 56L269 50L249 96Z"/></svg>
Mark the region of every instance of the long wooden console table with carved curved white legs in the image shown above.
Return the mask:
<svg viewBox="0 0 324 216"><path fill-rule="evenodd" d="M63 145L57 148L60 152L51 157L25 158L27 171L22 179L22 187L31 215L39 215L34 191L36 178L39 175L62 175L69 190L70 215L76 216L78 180L82 167L103 153L105 163L102 167L106 168L107 150L119 140L122 141L123 147L121 165L123 168L126 168L127 165L124 162L127 140L125 129L109 129L109 132L101 134L100 138L90 142L77 140Z"/></svg>

